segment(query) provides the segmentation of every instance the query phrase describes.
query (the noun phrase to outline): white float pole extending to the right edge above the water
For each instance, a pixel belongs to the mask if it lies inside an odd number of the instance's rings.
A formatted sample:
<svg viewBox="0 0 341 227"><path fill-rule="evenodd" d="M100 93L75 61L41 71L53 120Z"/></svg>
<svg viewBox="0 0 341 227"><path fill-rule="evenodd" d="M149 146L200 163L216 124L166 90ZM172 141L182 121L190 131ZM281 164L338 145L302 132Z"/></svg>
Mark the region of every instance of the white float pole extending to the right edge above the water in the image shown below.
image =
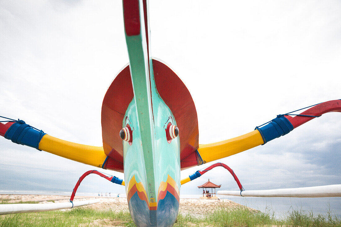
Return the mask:
<svg viewBox="0 0 341 227"><path fill-rule="evenodd" d="M219 195L232 196L252 196L252 197L341 197L341 184L314 186L314 187L298 187L298 188L281 188L272 190L250 190L250 191L218 191Z"/></svg>

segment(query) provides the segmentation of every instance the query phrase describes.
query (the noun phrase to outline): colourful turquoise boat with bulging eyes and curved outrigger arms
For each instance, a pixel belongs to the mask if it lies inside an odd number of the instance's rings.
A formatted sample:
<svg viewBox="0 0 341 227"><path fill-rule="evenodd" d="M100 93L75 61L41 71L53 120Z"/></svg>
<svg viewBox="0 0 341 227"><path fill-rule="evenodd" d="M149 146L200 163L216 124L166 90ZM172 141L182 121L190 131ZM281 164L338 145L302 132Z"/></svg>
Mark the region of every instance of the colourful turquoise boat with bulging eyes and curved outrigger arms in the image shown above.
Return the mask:
<svg viewBox="0 0 341 227"><path fill-rule="evenodd" d="M180 180L181 170L264 145L324 113L341 112L341 100L332 100L294 117L292 112L278 115L236 138L199 145L197 113L190 92L166 63L150 57L148 1L123 0L123 17L129 64L116 75L104 96L103 147L55 138L19 119L0 123L0 135L77 162L124 172L124 181L102 177L125 185L130 214L137 226L175 223L180 185L206 172L197 171ZM237 194L247 194L230 168L214 165L232 173L240 190ZM325 194L329 190L335 193L330 196L340 196L340 187L322 188Z"/></svg>

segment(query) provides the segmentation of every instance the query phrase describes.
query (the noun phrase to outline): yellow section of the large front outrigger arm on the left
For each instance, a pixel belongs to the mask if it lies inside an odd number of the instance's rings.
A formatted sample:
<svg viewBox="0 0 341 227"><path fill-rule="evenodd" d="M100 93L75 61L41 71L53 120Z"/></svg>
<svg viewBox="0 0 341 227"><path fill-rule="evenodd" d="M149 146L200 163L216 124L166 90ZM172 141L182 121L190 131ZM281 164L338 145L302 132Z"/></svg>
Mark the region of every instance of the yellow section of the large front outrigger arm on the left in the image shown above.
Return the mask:
<svg viewBox="0 0 341 227"><path fill-rule="evenodd" d="M39 149L96 167L102 167L107 157L103 147L73 143L47 134L40 140Z"/></svg>

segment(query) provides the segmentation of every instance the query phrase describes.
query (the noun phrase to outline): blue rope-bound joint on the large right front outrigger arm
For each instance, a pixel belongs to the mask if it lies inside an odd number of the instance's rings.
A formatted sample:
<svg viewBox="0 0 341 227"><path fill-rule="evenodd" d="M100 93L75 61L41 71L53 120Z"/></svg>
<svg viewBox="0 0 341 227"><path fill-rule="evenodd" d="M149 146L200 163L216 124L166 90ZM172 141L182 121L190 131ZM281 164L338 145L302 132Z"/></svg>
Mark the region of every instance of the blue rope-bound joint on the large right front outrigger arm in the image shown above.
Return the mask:
<svg viewBox="0 0 341 227"><path fill-rule="evenodd" d="M283 115L277 115L277 118L272 119L270 122L268 122L267 125L264 125L263 127L259 126L255 129L257 129L261 133L264 141L262 145L264 145L270 140L290 133L290 131L294 129L294 126Z"/></svg>

